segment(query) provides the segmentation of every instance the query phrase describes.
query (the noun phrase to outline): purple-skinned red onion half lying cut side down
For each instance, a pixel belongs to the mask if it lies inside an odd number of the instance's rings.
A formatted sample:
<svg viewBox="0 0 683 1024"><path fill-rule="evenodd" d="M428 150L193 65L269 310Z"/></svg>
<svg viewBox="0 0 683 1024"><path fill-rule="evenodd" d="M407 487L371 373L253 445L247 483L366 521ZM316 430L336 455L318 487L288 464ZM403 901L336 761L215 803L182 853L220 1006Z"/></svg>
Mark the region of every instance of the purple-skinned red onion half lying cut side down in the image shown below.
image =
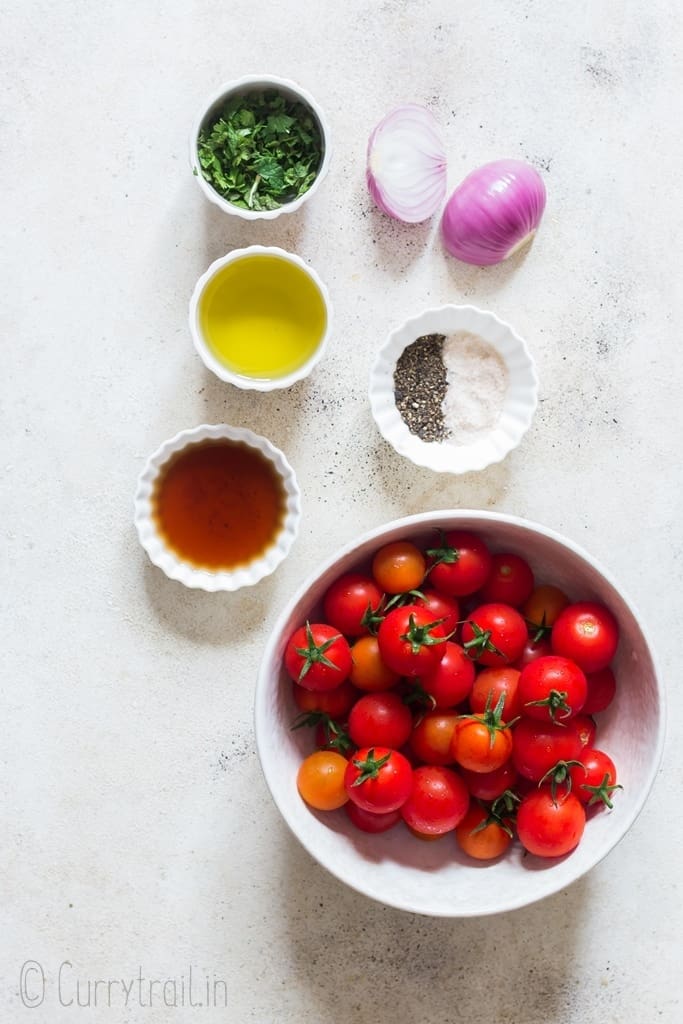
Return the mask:
<svg viewBox="0 0 683 1024"><path fill-rule="evenodd" d="M546 207L541 175L521 160L497 160L468 174L445 205L441 233L465 263L501 263L533 237Z"/></svg>

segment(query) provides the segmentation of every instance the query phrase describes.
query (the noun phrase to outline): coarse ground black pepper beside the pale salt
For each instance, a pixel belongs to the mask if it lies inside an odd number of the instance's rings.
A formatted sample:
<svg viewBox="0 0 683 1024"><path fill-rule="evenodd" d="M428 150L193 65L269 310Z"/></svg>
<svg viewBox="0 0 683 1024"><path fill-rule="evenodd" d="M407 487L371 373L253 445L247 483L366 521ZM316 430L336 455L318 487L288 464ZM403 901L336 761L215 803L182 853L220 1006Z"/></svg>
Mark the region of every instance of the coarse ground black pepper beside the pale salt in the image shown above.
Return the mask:
<svg viewBox="0 0 683 1024"><path fill-rule="evenodd" d="M442 334L425 334L407 345L396 360L393 393L396 409L412 434L442 441L449 431L441 402L447 386Z"/></svg>

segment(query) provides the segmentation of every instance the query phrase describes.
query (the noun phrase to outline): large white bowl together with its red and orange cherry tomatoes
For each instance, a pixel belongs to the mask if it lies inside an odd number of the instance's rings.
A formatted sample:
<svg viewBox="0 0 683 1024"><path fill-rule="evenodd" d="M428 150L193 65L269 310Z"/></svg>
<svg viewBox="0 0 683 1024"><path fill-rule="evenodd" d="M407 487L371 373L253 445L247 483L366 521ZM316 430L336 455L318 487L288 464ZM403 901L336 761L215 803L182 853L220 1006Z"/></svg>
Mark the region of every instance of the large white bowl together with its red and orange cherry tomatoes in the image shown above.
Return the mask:
<svg viewBox="0 0 683 1024"><path fill-rule="evenodd" d="M258 753L308 852L435 916L510 910L597 864L645 803L665 706L622 589L553 530L437 511L370 530L282 612Z"/></svg>

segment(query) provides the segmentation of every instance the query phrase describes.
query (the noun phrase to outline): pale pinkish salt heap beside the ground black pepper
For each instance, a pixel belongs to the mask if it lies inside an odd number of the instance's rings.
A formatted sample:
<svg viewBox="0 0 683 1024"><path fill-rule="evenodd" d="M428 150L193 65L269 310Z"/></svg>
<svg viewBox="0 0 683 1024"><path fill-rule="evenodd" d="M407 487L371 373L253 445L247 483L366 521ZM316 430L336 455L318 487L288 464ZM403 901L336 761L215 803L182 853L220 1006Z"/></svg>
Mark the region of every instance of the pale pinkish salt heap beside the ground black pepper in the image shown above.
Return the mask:
<svg viewBox="0 0 683 1024"><path fill-rule="evenodd" d="M471 444L496 426L508 387L508 368L493 345L459 331L443 341L446 389L441 402L451 444Z"/></svg>

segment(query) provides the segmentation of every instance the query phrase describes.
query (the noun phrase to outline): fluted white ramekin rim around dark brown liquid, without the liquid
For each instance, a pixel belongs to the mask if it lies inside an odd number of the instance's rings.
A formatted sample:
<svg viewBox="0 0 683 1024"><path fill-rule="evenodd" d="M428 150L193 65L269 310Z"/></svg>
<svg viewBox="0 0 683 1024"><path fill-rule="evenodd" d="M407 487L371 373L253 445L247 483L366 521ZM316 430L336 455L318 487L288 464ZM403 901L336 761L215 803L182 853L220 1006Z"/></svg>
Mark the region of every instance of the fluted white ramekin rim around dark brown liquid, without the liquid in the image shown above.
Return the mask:
<svg viewBox="0 0 683 1024"><path fill-rule="evenodd" d="M198 568L184 561L166 544L155 522L154 494L157 480L163 472L169 459L178 452L184 451L190 444L204 440L240 441L256 449L273 464L281 477L285 490L285 517L282 526L272 544L259 557L231 570L211 570ZM171 580L177 580L193 590L234 591L242 587L251 587L269 575L287 557L296 540L301 517L299 485L294 470L274 444L265 437L242 427L231 427L225 423L209 426L203 424L191 430L182 430L157 449L150 456L144 469L140 473L135 492L134 522L140 544L155 565Z"/></svg>

